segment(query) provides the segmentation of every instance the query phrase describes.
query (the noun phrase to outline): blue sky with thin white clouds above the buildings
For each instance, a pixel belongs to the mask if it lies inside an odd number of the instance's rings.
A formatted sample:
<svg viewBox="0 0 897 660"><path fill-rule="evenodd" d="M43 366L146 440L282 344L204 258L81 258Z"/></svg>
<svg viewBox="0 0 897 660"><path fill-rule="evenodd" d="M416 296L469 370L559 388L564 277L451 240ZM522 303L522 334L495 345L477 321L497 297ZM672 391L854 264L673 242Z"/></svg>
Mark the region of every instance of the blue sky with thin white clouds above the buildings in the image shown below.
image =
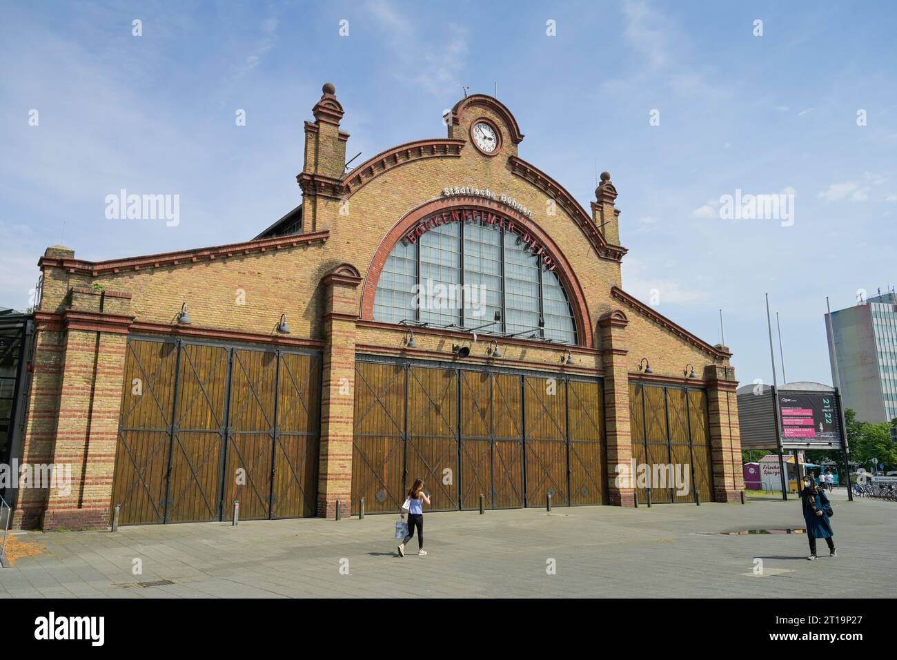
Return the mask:
<svg viewBox="0 0 897 660"><path fill-rule="evenodd" d="M60 241L102 260L256 235L300 202L326 81L360 160L497 84L521 157L583 206L612 173L625 289L711 343L722 308L743 383L771 380L769 293L788 379L831 383L825 296L897 285L895 23L890 2L7 3L0 305ZM179 194L179 225L107 220L122 188ZM794 224L721 219L736 189L794 194Z"/></svg>

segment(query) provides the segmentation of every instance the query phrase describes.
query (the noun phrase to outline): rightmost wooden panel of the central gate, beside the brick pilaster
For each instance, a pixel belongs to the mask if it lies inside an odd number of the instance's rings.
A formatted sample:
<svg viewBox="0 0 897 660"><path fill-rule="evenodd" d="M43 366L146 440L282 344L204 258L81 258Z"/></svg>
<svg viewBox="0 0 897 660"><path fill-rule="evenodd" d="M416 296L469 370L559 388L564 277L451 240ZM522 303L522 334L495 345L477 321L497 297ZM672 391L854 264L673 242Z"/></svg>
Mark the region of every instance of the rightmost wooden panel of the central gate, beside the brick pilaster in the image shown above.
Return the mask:
<svg viewBox="0 0 897 660"><path fill-rule="evenodd" d="M570 504L599 505L607 496L605 400L601 383L570 380Z"/></svg>

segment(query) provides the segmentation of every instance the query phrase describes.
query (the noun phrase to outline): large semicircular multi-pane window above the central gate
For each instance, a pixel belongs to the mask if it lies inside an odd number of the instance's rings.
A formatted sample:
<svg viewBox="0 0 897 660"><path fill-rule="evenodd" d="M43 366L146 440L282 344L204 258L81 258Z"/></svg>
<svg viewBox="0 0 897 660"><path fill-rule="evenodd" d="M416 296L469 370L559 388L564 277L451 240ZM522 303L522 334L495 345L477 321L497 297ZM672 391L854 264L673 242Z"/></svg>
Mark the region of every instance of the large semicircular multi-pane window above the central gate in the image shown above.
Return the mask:
<svg viewBox="0 0 897 660"><path fill-rule="evenodd" d="M504 221L466 212L412 235L380 274L375 321L577 342L561 281Z"/></svg>

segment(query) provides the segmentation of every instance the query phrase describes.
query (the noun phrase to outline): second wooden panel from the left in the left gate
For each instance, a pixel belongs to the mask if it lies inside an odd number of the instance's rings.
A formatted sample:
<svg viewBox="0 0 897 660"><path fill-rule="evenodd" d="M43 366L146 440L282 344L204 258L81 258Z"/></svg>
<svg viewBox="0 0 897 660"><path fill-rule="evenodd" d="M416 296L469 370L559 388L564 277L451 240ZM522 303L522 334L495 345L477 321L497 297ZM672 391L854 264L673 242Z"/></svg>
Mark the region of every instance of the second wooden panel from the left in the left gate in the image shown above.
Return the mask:
<svg viewBox="0 0 897 660"><path fill-rule="evenodd" d="M229 354L219 346L181 347L166 522L221 517Z"/></svg>

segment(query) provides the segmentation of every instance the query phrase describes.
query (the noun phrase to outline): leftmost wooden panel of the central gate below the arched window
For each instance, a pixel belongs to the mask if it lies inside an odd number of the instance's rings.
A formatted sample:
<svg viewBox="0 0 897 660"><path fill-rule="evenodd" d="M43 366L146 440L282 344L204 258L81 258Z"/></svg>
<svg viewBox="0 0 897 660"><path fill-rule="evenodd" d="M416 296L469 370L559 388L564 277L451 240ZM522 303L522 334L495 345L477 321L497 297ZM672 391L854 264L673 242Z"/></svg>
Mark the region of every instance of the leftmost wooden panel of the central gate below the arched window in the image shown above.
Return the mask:
<svg viewBox="0 0 897 660"><path fill-rule="evenodd" d="M405 501L405 386L401 365L355 363L353 513L361 497L371 513L397 513Z"/></svg>

